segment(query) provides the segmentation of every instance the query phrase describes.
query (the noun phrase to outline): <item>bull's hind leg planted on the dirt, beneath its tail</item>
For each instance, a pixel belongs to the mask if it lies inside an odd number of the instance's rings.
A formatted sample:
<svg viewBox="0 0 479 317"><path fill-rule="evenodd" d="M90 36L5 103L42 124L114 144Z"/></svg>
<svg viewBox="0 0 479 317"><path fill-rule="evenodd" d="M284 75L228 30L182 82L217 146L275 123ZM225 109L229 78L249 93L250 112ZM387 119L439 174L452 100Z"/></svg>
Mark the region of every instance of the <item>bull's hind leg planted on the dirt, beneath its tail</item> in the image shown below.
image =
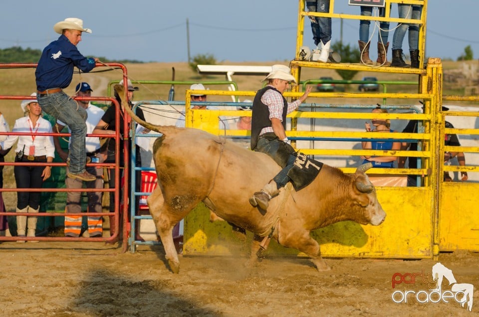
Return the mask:
<svg viewBox="0 0 479 317"><path fill-rule="evenodd" d="M178 211L173 212L171 208L165 204L165 198L163 197L160 186L155 188L148 197L147 202L156 230L160 235L161 243L165 249L165 257L168 261L168 265L173 273L178 273L180 271L180 261L175 243L173 242L173 227L183 218L183 215L179 215Z"/></svg>

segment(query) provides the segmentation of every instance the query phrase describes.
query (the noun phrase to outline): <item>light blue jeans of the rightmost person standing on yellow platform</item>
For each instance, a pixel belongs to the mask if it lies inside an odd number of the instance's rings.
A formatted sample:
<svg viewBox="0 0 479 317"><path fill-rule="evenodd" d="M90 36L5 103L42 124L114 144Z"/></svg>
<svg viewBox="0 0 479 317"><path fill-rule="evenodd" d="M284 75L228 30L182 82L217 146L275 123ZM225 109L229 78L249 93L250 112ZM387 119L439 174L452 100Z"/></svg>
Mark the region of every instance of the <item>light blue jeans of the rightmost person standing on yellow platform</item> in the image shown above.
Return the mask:
<svg viewBox="0 0 479 317"><path fill-rule="evenodd" d="M406 19L420 19L422 6L411 4L399 4L398 11L400 18ZM394 31L393 35L393 49L400 49L403 47L404 36L409 29L409 49L418 49L419 41L419 25L410 23L401 23Z"/></svg>

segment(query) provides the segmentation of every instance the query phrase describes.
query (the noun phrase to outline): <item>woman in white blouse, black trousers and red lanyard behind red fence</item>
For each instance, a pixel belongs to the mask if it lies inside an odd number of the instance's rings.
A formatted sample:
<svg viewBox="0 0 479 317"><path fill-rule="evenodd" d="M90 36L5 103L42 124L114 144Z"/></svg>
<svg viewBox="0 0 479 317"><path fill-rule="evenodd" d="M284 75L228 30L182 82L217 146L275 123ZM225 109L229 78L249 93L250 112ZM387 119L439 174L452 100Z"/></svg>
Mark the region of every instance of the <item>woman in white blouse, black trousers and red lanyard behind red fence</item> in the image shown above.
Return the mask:
<svg viewBox="0 0 479 317"><path fill-rule="evenodd" d="M36 96L36 93L31 94ZM34 133L34 135L14 136L9 135L3 142L0 142L1 149L9 149L18 140L15 149L15 162L47 162L53 161L55 147L53 137L42 136L42 133L51 133L51 124L41 117L41 108L36 100L23 100L21 109L25 116L15 121L11 130L12 133ZM17 188L41 188L43 181L50 177L51 166L15 165L15 181ZM16 212L38 213L40 207L40 192L17 191ZM17 216L17 235L34 237L37 217ZM17 242L25 242L18 240ZM38 241L30 241L38 242Z"/></svg>

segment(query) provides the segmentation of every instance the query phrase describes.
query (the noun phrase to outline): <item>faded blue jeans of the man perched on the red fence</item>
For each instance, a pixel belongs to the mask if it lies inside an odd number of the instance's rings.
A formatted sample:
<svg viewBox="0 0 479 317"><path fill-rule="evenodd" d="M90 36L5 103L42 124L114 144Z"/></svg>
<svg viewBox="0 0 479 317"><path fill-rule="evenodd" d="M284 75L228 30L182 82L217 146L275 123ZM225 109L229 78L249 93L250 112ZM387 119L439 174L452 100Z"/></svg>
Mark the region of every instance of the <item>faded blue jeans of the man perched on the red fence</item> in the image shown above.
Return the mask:
<svg viewBox="0 0 479 317"><path fill-rule="evenodd" d="M84 172L86 163L85 120L88 117L85 109L78 106L76 101L70 99L64 92L38 96L37 100L41 110L70 128L70 172L73 174Z"/></svg>

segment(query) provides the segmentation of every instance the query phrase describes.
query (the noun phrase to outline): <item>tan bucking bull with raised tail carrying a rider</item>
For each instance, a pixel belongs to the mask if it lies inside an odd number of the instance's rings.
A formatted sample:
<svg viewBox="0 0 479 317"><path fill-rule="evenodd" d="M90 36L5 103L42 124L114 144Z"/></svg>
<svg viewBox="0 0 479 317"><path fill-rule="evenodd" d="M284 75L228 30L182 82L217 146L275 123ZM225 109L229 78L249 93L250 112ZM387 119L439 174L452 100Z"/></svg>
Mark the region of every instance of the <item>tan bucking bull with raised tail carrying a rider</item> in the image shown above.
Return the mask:
<svg viewBox="0 0 479 317"><path fill-rule="evenodd" d="M122 86L115 89L123 96ZM180 266L173 227L201 201L221 218L253 232L249 264L256 261L260 242L270 236L304 252L319 271L329 267L312 230L345 220L379 225L386 217L364 173L370 164L352 175L324 164L305 188L296 192L288 184L281 189L266 212L248 199L280 170L270 157L198 129L154 126L125 109L141 125L163 133L153 146L158 186L147 201L174 273Z"/></svg>

